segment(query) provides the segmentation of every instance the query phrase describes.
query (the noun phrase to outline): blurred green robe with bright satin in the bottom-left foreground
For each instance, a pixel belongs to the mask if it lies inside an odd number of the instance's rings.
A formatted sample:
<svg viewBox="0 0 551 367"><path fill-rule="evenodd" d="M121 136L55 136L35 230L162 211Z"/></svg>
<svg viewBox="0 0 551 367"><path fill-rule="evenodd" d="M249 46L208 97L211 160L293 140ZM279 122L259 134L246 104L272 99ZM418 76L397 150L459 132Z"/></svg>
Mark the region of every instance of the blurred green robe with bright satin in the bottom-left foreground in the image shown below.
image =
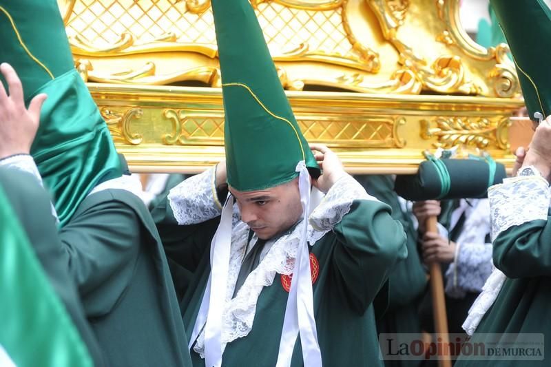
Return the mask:
<svg viewBox="0 0 551 367"><path fill-rule="evenodd" d="M30 174L0 167L0 218L0 360L6 348L19 367L103 366L57 256L48 193Z"/></svg>

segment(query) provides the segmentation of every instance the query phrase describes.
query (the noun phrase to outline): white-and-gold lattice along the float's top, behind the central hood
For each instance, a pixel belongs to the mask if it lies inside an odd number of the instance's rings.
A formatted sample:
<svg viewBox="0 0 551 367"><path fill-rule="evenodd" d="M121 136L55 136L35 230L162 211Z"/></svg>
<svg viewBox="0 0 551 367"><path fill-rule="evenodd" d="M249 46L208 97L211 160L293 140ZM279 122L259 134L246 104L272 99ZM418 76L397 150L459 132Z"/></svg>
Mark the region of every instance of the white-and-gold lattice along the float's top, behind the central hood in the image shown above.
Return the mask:
<svg viewBox="0 0 551 367"><path fill-rule="evenodd" d="M352 46L342 26L341 8L315 11L261 3L258 21L272 52L282 54L302 43L309 51L351 54ZM123 33L134 36L134 45L163 39L171 33L179 43L216 45L211 10L194 14L185 1L78 0L67 23L68 36L79 35L96 48L112 45Z"/></svg>

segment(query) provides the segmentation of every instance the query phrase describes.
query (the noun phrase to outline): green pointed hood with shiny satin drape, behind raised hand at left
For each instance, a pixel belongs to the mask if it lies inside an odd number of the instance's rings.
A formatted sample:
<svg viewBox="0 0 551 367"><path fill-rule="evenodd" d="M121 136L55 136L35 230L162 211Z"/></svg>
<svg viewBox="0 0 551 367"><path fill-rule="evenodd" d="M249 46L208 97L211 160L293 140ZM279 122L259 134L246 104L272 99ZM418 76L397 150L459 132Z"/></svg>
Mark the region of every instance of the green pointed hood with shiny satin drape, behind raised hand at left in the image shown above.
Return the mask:
<svg viewBox="0 0 551 367"><path fill-rule="evenodd" d="M21 78L26 103L48 94L31 154L66 224L87 194L121 176L122 168L109 129L74 68L56 0L0 0L0 62L10 63Z"/></svg>

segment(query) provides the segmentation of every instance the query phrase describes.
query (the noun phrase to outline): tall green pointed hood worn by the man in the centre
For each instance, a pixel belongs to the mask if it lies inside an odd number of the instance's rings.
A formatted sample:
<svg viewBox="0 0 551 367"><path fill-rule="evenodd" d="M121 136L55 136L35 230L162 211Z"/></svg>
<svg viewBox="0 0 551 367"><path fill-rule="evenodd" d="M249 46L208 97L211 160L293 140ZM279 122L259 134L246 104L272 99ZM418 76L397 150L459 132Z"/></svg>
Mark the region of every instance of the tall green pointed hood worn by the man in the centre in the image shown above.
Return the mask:
<svg viewBox="0 0 551 367"><path fill-rule="evenodd" d="M239 191L281 185L298 176L295 167L300 160L319 174L251 4L212 0L212 10L222 72L229 185Z"/></svg>

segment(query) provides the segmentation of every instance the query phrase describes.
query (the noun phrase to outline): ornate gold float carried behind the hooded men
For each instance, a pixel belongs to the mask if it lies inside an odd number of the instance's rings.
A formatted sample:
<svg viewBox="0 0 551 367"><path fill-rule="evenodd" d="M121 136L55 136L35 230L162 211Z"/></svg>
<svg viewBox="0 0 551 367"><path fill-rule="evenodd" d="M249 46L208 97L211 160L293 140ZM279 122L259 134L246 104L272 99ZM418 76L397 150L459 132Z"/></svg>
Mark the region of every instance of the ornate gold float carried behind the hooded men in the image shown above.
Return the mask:
<svg viewBox="0 0 551 367"><path fill-rule="evenodd" d="M464 32L457 0L252 0L298 122L355 172L415 171L461 145L508 165L523 105L502 44ZM209 0L59 0L77 68L134 171L223 156Z"/></svg>

